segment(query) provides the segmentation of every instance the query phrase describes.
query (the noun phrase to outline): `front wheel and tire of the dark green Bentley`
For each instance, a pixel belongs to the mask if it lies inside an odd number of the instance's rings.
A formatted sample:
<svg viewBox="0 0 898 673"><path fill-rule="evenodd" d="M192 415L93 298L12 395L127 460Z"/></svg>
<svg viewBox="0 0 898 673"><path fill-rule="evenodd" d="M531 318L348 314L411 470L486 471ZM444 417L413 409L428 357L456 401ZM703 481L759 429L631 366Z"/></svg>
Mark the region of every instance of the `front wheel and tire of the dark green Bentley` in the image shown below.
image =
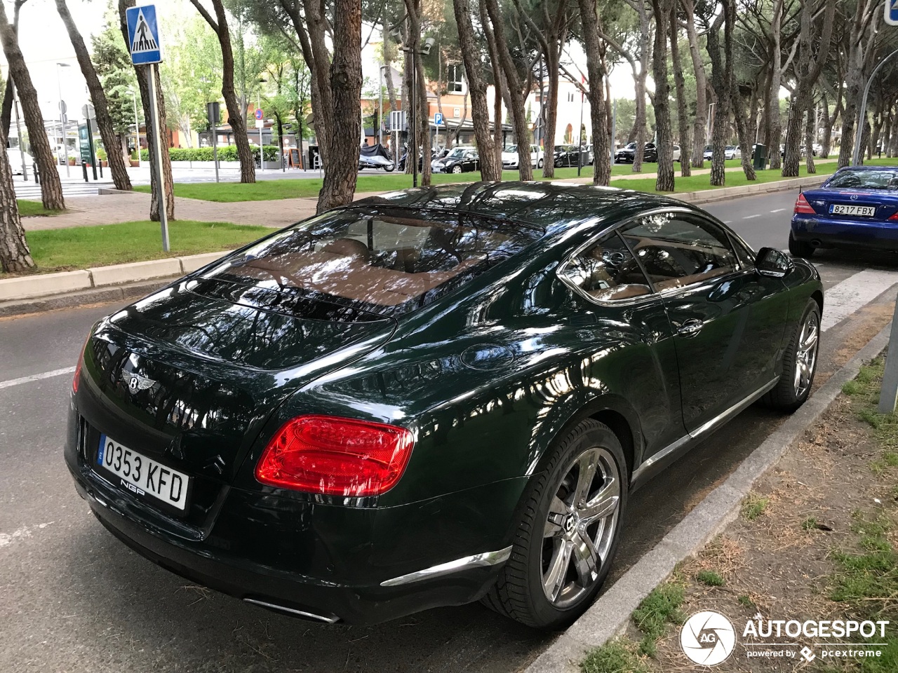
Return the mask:
<svg viewBox="0 0 898 673"><path fill-rule="evenodd" d="M791 413L805 404L814 385L819 349L820 307L810 299L783 354L779 382L764 396L768 406Z"/></svg>

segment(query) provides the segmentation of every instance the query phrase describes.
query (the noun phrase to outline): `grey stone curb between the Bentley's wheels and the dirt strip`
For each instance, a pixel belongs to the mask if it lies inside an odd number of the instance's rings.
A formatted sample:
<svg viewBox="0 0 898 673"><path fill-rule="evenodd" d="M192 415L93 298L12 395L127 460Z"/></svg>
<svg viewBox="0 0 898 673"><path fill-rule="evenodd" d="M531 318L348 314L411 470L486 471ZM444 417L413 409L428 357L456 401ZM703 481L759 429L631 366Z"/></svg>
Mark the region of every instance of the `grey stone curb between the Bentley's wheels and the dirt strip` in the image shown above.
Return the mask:
<svg viewBox="0 0 898 673"><path fill-rule="evenodd" d="M888 345L891 323L885 326L841 366L793 415L779 425L738 468L715 488L621 579L614 582L588 610L560 634L524 673L578 673L586 651L621 634L633 610L648 593L674 571L676 564L696 554L738 514L740 504L760 479L823 414L841 392L842 385L858 375L862 363Z"/></svg>

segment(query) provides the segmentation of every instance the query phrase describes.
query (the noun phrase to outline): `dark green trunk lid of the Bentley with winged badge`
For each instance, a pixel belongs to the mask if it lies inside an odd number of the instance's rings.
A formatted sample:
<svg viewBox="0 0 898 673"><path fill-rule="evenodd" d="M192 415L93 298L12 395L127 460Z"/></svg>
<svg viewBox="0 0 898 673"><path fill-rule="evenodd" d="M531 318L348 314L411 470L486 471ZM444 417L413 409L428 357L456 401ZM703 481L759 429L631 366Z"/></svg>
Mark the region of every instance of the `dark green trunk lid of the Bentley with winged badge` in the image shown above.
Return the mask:
<svg viewBox="0 0 898 673"><path fill-rule="evenodd" d="M185 523L204 528L274 409L383 345L394 321L310 319L191 289L200 289L196 281L101 321L84 352L76 406L87 462L105 434L184 472L193 482Z"/></svg>

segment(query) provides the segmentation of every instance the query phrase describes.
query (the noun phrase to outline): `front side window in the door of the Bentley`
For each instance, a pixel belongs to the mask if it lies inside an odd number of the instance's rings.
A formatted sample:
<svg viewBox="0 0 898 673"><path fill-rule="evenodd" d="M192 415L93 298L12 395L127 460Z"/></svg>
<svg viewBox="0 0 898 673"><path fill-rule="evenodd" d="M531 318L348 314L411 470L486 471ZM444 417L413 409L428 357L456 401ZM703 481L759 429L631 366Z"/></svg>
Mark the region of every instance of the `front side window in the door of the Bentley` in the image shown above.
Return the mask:
<svg viewBox="0 0 898 673"><path fill-rule="evenodd" d="M690 214L646 215L621 233L659 293L729 274L739 266L726 232Z"/></svg>

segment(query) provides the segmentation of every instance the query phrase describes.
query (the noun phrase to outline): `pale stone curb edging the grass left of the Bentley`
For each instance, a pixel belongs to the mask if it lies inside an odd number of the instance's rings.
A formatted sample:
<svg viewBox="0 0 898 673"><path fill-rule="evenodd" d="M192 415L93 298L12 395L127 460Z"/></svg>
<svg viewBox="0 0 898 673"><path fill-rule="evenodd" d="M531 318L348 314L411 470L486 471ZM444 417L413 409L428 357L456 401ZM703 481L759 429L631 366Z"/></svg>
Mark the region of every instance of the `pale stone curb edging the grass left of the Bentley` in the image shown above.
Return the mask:
<svg viewBox="0 0 898 673"><path fill-rule="evenodd" d="M59 294L78 293L93 288L108 287L147 281L154 278L172 278L189 274L211 264L233 250L205 252L187 257L154 259L148 262L116 264L110 267L93 267L80 271L64 271L57 274L22 275L0 280L0 315L4 315L7 302L40 299Z"/></svg>

